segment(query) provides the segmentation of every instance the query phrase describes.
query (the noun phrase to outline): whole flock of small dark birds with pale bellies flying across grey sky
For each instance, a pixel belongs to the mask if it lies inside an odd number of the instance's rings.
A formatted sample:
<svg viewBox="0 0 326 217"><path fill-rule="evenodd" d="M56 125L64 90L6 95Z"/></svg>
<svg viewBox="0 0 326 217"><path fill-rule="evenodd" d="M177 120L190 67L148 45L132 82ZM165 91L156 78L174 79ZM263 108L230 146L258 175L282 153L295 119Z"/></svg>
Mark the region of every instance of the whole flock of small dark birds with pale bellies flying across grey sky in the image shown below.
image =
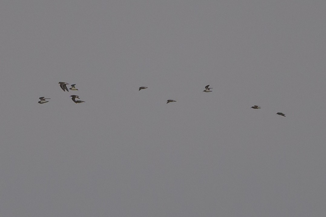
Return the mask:
<svg viewBox="0 0 326 217"><path fill-rule="evenodd" d="M68 90L68 88L67 88L67 84L68 84L68 83L66 83L66 82L59 82L58 84L60 85L60 88L61 88L63 91L66 91L66 90L67 90L67 92L69 92L69 90ZM69 89L70 89L70 90L78 90L78 89L75 87L75 85L76 85L76 84L72 84L72 85L71 85L71 88L69 88ZM140 87L139 90L143 90L143 89L147 89L147 88L148 88L148 87ZM207 86L205 86L205 90L203 90L203 92L206 92L206 93L207 93L207 92L212 92L211 89L213 89L213 88L209 88L209 85L207 85ZM71 97L71 100L72 100L73 102L75 102L75 103L82 103L82 102L85 102L85 101L81 101L81 100L76 100L76 98L77 98L77 99L80 99L79 96L77 96L77 95L71 95L70 97ZM49 102L49 101L46 101L46 100L50 100L50 98L45 98L45 97L40 97L40 98L38 98L38 99L40 99L40 101L38 101L38 103L40 103L40 104L47 103L47 102ZM169 102L177 102L177 101L175 101L175 100L167 100L167 101L166 101L166 103L169 103ZM261 107L258 106L258 105L254 105L254 106L252 106L251 108L253 108L253 109L260 109ZM285 117L285 114L283 114L282 112L278 112L278 113L276 113L276 115L281 115L281 116L284 116L284 117Z"/></svg>

